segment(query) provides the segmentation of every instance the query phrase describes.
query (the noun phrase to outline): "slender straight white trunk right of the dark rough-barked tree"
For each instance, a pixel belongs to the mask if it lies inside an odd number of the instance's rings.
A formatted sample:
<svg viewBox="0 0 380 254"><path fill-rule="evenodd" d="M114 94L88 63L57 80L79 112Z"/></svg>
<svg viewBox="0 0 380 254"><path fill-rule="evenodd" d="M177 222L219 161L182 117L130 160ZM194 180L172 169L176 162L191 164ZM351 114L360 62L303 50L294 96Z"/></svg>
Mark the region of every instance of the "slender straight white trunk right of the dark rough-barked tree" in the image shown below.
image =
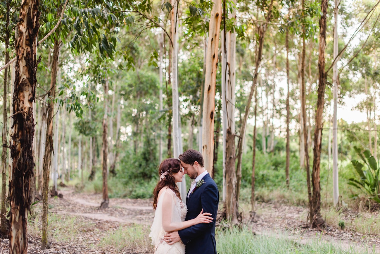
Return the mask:
<svg viewBox="0 0 380 254"><path fill-rule="evenodd" d="M334 59L338 56L338 11L340 0L335 0L334 7ZM332 118L332 186L333 186L333 199L334 206L339 202L339 185L338 185L338 121L337 121L337 108L338 108L338 61L333 66L333 98L334 98L334 116Z"/></svg>

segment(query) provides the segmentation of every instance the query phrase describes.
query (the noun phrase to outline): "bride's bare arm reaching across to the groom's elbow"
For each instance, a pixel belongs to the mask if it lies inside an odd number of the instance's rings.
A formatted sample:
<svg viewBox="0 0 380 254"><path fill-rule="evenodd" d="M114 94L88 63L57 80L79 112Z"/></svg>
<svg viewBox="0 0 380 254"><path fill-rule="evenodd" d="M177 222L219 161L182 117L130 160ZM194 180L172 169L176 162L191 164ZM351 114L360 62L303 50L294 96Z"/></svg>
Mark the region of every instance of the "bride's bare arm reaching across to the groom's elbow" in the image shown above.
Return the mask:
<svg viewBox="0 0 380 254"><path fill-rule="evenodd" d="M162 227L166 232L185 229L199 223L210 223L214 219L210 217L211 213L203 213L203 209L199 215L188 221L181 221L180 211L177 210L175 204L175 194L172 191L165 192L162 204Z"/></svg>

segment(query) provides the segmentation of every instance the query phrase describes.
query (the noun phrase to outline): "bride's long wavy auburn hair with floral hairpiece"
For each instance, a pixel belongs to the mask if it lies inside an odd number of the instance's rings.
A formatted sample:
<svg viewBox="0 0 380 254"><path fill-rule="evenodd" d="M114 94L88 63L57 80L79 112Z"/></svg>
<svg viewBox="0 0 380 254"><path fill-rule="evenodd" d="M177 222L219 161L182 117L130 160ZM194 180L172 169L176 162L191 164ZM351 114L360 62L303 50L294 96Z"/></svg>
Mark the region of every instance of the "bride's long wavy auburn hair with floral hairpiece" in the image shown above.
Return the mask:
<svg viewBox="0 0 380 254"><path fill-rule="evenodd" d="M173 176L173 173L178 173L180 169L181 164L179 163L179 159L169 158L161 162L160 167L158 168L158 175L160 176L160 180L153 190L153 209L157 208L158 193L165 186L168 186L169 189L173 190L177 197L181 199L176 184L176 179Z"/></svg>

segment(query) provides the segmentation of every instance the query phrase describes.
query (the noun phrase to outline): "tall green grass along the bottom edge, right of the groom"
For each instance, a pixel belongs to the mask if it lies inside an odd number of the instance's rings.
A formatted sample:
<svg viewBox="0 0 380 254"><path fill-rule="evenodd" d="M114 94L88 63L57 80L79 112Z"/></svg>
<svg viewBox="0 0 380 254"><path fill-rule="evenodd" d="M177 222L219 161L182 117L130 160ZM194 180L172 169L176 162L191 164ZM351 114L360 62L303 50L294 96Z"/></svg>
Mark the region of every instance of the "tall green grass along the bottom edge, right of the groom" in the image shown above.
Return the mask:
<svg viewBox="0 0 380 254"><path fill-rule="evenodd" d="M287 235L254 235L247 227L217 230L217 251L223 254L251 253L372 253L367 246L332 244L316 237L313 240L291 240Z"/></svg>

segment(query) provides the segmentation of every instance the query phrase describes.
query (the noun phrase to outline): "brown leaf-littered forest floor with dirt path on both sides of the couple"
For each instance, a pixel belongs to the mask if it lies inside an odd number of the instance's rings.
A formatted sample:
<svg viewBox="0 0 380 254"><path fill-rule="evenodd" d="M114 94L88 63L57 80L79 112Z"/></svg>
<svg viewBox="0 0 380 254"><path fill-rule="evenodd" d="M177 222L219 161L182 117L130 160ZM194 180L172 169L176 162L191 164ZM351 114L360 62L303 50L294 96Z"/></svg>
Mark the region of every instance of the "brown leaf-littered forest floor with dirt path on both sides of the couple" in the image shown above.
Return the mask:
<svg viewBox="0 0 380 254"><path fill-rule="evenodd" d="M102 239L116 232L120 227L128 227L132 224L140 224L143 227L150 227L154 218L151 200L141 199L123 199L111 198L109 208L99 209L101 194L83 194L77 193L73 188L61 188L59 193L63 198L49 199L49 213L59 214L64 220L74 218L72 228L57 229L52 226L51 235L56 230L60 230L57 237L50 237L50 248L41 250L40 233L31 232L28 237L28 253L46 254L46 253L70 253L70 254L95 254L95 253L129 253L129 254L147 254L153 253L153 248L147 239L146 248L123 248L101 244ZM35 208L39 210L42 206L38 204ZM380 238L364 236L361 233L350 230L341 230L340 228L328 227L323 232L311 230L305 227L307 208L299 206L281 205L275 203L258 203L256 206L258 213L253 221L245 222L256 235L287 235L291 240L300 244L307 243L310 240L320 240L337 244L340 248L350 249L355 246L356 249L370 248L368 253L380 253ZM248 217L243 213L243 218ZM345 219L354 218L355 213L347 212ZM29 225L29 224L28 224ZM29 229L28 229L29 230ZM38 227L37 229L38 230ZM80 233L70 237L74 230ZM29 230L33 231L33 230ZM61 237L62 235L62 237ZM53 239L52 239L53 238ZM9 253L9 241L2 239L0 242L0 254Z"/></svg>

